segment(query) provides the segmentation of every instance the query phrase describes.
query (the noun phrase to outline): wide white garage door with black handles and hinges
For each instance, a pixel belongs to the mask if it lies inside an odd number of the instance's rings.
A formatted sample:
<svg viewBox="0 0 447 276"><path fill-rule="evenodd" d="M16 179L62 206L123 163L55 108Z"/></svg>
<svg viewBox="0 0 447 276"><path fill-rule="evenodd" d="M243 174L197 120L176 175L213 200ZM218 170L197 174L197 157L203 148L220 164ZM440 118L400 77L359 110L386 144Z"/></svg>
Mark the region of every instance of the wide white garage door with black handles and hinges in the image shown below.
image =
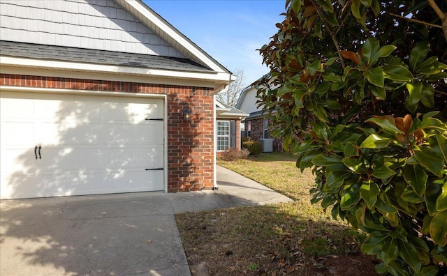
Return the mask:
<svg viewBox="0 0 447 276"><path fill-rule="evenodd" d="M164 190L163 103L1 92L1 199Z"/></svg>

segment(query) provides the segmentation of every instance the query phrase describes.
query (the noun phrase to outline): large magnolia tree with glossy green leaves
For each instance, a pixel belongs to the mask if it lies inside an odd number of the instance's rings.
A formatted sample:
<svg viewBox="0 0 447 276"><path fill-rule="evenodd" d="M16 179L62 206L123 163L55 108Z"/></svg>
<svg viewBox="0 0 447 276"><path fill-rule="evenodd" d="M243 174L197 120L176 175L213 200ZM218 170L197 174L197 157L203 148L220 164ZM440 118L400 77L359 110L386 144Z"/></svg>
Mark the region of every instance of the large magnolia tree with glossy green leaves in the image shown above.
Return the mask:
<svg viewBox="0 0 447 276"><path fill-rule="evenodd" d="M287 0L261 49L273 134L377 273L447 273L447 1Z"/></svg>

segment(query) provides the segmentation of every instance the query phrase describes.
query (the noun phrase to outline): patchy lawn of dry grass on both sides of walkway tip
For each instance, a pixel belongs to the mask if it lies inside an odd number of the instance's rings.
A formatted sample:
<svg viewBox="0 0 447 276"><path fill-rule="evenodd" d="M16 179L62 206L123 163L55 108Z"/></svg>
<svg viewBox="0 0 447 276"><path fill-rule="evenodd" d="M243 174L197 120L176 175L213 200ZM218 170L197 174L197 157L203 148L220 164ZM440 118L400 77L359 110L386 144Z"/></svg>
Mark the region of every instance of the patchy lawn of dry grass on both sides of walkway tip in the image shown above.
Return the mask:
<svg viewBox="0 0 447 276"><path fill-rule="evenodd" d="M176 215L191 272L208 275L312 275L318 258L358 254L358 231L310 204L310 171L287 153L263 153L222 167L266 185L293 202ZM307 272L306 272L307 271Z"/></svg>

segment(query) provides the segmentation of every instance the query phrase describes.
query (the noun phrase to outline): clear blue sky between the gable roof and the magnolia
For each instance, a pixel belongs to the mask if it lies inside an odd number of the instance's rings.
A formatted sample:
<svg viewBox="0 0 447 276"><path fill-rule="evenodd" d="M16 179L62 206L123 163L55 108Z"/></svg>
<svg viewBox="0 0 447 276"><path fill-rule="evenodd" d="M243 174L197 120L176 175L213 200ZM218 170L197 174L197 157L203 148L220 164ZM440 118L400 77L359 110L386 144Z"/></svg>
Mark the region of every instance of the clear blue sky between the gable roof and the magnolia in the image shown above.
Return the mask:
<svg viewBox="0 0 447 276"><path fill-rule="evenodd" d="M228 70L244 70L246 85L268 72L256 49L282 22L284 0L143 0Z"/></svg>

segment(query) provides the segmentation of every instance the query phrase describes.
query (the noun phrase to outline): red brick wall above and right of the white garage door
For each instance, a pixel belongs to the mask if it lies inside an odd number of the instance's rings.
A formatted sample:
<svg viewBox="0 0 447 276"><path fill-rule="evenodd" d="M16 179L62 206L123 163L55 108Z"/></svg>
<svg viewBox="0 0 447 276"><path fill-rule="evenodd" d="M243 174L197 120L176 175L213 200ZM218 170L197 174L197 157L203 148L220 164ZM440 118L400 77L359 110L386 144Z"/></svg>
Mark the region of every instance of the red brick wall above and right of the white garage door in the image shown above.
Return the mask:
<svg viewBox="0 0 447 276"><path fill-rule="evenodd" d="M168 192L214 185L213 89L8 74L0 74L0 85L168 95ZM183 119L186 108L193 114L190 122Z"/></svg>

